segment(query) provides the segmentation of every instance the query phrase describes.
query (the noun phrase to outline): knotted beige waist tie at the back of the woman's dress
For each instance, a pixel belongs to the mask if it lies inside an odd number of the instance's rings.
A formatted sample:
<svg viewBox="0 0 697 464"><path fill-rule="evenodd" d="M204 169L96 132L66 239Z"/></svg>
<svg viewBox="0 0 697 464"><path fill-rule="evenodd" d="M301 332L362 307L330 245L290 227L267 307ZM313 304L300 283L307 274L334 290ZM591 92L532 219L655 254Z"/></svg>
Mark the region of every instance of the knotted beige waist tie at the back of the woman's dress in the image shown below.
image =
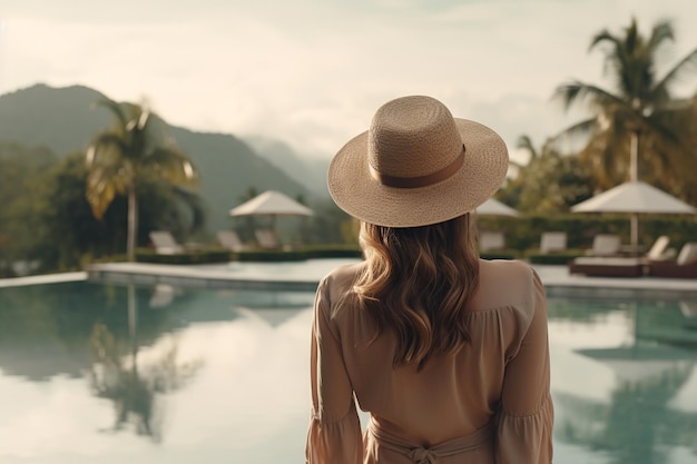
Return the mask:
<svg viewBox="0 0 697 464"><path fill-rule="evenodd" d="M490 421L489 424L471 434L458 436L428 447L406 442L404 438L381 428L372 418L367 424L366 432L375 437L380 446L401 453L415 464L438 464L441 457L452 456L478 448L493 437L493 431L494 421Z"/></svg>

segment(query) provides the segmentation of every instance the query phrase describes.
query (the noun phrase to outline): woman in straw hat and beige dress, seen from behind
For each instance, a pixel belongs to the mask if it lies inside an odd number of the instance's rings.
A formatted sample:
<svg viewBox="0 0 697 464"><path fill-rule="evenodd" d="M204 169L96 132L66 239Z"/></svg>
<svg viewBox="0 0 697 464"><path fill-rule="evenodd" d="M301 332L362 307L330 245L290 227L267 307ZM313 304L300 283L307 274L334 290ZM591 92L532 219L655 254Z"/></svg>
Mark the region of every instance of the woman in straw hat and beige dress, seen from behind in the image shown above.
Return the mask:
<svg viewBox="0 0 697 464"><path fill-rule="evenodd" d="M507 169L495 132L429 97L385 103L336 154L330 192L365 260L317 288L308 463L551 462L542 284L475 248Z"/></svg>

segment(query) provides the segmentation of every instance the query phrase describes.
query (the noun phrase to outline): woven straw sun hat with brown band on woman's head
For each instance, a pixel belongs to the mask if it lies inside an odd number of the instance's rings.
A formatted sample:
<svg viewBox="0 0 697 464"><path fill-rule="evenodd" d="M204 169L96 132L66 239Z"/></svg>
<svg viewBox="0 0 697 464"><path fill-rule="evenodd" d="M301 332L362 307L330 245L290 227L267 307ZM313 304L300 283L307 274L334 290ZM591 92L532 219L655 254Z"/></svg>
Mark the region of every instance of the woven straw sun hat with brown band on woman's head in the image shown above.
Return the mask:
<svg viewBox="0 0 697 464"><path fill-rule="evenodd" d="M370 129L334 156L327 181L351 216L416 227L474 210L501 187L507 170L508 150L493 130L414 96L379 108Z"/></svg>

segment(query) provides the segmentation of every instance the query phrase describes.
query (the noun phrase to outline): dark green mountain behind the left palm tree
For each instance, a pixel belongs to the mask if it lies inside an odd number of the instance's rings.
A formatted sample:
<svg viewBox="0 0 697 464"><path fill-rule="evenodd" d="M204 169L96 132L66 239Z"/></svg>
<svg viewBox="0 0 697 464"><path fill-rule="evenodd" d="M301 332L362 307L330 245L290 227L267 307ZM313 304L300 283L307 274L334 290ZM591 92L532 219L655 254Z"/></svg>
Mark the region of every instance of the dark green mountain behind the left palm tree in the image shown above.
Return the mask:
<svg viewBox="0 0 697 464"><path fill-rule="evenodd" d="M94 107L104 98L104 93L88 87L45 85L0 96L0 140L46 146L60 156L85 150L95 134L112 124L109 111ZM165 125L200 171L199 192L208 206L210 231L229 228L229 209L240 204L252 187L259 192L275 189L291 197L302 195L310 204L320 197L311 187L317 184L314 174L305 181L294 179L233 135ZM320 178L323 181L324 175Z"/></svg>

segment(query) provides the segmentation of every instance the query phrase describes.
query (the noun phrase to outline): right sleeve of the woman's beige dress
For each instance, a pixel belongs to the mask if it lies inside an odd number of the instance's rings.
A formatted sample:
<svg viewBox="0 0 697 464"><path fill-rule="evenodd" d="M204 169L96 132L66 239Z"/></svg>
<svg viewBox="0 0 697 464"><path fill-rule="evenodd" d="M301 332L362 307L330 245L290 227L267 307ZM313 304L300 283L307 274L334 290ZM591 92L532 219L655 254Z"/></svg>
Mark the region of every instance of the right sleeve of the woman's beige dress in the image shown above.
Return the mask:
<svg viewBox="0 0 697 464"><path fill-rule="evenodd" d="M505 367L497 435L497 463L550 464L554 411L549 389L547 300L533 272L534 313Z"/></svg>

